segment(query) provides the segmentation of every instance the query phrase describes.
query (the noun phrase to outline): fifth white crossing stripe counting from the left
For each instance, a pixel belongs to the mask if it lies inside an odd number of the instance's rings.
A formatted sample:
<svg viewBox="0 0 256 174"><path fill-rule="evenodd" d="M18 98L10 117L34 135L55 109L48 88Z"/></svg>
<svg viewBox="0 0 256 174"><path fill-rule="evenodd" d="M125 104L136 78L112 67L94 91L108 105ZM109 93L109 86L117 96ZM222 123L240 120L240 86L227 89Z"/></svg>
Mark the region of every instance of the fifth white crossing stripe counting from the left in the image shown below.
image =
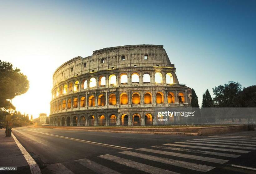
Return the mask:
<svg viewBox="0 0 256 174"><path fill-rule="evenodd" d="M175 156L175 157L196 159L196 160L200 160L200 161L208 161L208 162L219 163L219 164L224 164L229 161L229 160L218 159L218 158L209 158L209 157L189 155L189 154L184 154L184 153L168 152L168 151L155 150L155 149L140 148L140 149L136 149L136 150L152 152L152 153L159 153L159 154L170 155L170 156Z"/></svg>

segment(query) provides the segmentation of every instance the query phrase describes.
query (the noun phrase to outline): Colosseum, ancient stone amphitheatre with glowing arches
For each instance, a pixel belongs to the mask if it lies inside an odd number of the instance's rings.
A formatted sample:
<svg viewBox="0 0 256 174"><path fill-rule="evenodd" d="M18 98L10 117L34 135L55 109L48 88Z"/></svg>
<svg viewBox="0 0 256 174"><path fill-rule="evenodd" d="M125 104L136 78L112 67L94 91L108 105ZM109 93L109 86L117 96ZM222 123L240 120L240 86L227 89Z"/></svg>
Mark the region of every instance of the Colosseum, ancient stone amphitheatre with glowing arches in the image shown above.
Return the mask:
<svg viewBox="0 0 256 174"><path fill-rule="evenodd" d="M191 107L163 45L126 45L75 57L53 74L50 125L156 125L155 110Z"/></svg>

